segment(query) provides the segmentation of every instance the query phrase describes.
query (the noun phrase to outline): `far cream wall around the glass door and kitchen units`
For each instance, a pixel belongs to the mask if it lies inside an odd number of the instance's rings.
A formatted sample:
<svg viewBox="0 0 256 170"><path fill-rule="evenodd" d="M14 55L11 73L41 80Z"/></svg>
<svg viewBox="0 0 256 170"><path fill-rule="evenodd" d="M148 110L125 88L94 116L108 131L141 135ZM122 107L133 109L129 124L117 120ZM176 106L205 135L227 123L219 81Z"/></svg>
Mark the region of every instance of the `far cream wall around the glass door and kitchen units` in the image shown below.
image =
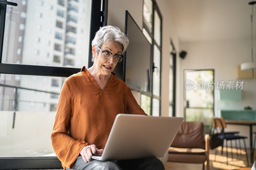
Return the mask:
<svg viewBox="0 0 256 170"><path fill-rule="evenodd" d="M255 42L255 40L254 40ZM236 67L243 62L251 61L251 39L226 39L218 41L181 42L180 49L186 50L187 56L180 60L180 83L183 82L184 69L214 69L216 81L236 81ZM254 45L256 49L256 45ZM255 53L255 52L254 52ZM255 55L254 55L255 58ZM220 109L243 110L250 105L256 109L256 78L239 79L244 81L241 101L219 101L215 90L215 115L220 116ZM183 96L182 88L179 94ZM182 106L183 97L180 100L180 110L184 115ZM253 128L256 131L256 127ZM241 125L228 125L227 131L241 131L242 135L249 137L249 127ZM249 140L247 139L247 147Z"/></svg>

